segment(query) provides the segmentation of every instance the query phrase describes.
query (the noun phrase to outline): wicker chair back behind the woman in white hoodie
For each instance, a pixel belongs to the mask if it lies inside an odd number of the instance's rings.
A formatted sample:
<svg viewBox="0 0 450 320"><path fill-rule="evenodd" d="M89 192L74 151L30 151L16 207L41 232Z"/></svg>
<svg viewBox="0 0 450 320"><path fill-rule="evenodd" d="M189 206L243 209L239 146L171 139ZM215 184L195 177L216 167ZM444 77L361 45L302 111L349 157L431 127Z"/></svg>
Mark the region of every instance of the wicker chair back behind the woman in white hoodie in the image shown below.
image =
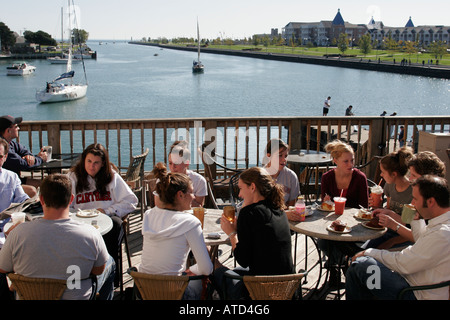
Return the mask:
<svg viewBox="0 0 450 320"><path fill-rule="evenodd" d="M142 300L181 300L190 280L203 279L204 276L168 276L148 274L130 268L128 273L134 280Z"/></svg>

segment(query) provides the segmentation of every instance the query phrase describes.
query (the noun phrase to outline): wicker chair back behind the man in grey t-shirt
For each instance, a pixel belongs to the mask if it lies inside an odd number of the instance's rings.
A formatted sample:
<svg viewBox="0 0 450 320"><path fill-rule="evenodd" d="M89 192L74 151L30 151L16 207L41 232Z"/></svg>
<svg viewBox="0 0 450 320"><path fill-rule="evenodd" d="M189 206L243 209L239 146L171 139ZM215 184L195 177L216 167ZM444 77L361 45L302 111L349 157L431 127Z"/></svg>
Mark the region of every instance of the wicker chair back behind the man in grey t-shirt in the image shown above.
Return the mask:
<svg viewBox="0 0 450 320"><path fill-rule="evenodd" d="M60 300L66 290L66 280L29 278L8 274L20 300Z"/></svg>

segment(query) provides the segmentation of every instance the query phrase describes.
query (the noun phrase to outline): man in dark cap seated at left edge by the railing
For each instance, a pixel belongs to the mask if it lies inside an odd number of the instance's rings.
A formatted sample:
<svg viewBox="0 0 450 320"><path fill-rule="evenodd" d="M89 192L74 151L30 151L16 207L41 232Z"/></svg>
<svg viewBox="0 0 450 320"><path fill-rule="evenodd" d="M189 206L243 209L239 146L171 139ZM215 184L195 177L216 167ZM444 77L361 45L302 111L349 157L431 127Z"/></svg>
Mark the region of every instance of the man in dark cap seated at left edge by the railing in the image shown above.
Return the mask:
<svg viewBox="0 0 450 320"><path fill-rule="evenodd" d="M47 161L47 153L41 150L37 156L34 156L25 146L21 145L14 139L19 137L19 124L22 117L14 118L12 116L2 116L0 118L0 137L9 143L9 156L4 163L4 168L11 170L20 177L20 171L30 170L42 162ZM33 197L36 195L36 187L39 186L40 180L23 178L22 184L24 191Z"/></svg>

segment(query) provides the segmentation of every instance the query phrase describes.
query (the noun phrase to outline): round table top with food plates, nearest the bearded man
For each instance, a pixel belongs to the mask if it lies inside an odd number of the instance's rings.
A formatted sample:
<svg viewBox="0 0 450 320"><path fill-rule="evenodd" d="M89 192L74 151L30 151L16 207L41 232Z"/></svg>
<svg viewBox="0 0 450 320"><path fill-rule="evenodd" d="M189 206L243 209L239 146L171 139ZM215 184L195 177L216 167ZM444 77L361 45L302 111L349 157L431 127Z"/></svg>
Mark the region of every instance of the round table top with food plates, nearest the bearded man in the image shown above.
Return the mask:
<svg viewBox="0 0 450 320"><path fill-rule="evenodd" d="M307 216L303 222L290 221L291 230L319 239L335 241L366 241L381 237L387 229L369 229L363 226L365 220L357 219L354 215L359 209L346 208L343 215L334 212L324 212L316 209L313 214ZM351 230L348 233L329 231L327 227L335 220L347 223Z"/></svg>

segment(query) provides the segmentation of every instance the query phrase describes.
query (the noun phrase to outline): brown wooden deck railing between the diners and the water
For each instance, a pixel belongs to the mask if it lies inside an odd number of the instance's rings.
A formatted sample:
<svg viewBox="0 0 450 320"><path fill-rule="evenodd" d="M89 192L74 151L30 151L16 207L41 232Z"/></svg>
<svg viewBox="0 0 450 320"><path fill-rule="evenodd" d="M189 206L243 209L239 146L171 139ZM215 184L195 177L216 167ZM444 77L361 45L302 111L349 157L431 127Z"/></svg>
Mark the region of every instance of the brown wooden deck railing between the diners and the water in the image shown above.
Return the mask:
<svg viewBox="0 0 450 320"><path fill-rule="evenodd" d="M228 167L260 165L267 141L281 138L291 149L323 150L334 139L342 139L356 150L356 163L384 155L399 147L400 126L406 143L417 148L419 131L450 132L450 116L426 117L238 117L136 120L24 121L20 142L38 153L41 146L53 146L54 153L82 152L91 143L105 145L111 160L127 166L132 155L150 149L145 169L167 163L170 145L185 139L195 151L202 143L215 143L225 155ZM354 132L354 129L357 129ZM417 151L417 149L416 149ZM191 168L202 168L201 158L192 152ZM369 169L370 170L370 169Z"/></svg>

